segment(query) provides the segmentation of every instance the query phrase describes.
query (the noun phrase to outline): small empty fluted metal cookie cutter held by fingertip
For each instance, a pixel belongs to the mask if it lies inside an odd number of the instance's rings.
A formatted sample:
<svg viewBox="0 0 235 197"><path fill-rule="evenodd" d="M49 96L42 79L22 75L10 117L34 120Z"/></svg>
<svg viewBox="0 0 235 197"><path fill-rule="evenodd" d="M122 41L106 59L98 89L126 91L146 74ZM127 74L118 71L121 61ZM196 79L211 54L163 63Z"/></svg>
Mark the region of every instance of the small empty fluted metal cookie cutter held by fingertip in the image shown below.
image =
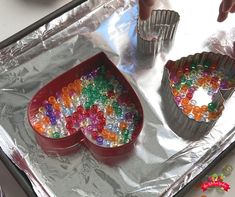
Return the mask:
<svg viewBox="0 0 235 197"><path fill-rule="evenodd" d="M174 38L180 15L173 10L153 10L149 19L137 22L137 49L155 54Z"/></svg>

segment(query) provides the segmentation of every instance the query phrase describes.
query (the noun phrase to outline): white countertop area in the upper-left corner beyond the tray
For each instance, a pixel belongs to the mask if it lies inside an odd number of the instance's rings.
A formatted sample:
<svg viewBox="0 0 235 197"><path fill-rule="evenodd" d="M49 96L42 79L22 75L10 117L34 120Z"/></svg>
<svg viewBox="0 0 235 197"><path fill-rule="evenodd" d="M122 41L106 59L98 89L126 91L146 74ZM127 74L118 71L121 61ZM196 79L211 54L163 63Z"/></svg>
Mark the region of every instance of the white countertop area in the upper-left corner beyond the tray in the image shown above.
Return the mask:
<svg viewBox="0 0 235 197"><path fill-rule="evenodd" d="M1 0L0 42L72 0Z"/></svg>

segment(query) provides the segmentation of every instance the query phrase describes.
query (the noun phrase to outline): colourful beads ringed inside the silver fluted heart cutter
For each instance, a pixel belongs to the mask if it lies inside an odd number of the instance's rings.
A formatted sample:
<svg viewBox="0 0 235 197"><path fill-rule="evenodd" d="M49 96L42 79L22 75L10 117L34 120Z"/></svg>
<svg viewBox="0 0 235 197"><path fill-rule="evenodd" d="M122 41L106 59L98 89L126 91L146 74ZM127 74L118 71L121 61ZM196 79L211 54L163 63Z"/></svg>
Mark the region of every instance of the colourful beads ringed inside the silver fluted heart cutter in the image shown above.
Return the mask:
<svg viewBox="0 0 235 197"><path fill-rule="evenodd" d="M216 69L217 66L209 62L204 64L191 62L174 70L174 65L168 65L170 86L175 103L190 119L210 122L221 115L223 105L218 105L214 101L214 96L219 93L219 90L231 88L234 80L225 77L222 71ZM203 94L201 96L203 98L196 96L199 91ZM199 99L202 102L199 103Z"/></svg>

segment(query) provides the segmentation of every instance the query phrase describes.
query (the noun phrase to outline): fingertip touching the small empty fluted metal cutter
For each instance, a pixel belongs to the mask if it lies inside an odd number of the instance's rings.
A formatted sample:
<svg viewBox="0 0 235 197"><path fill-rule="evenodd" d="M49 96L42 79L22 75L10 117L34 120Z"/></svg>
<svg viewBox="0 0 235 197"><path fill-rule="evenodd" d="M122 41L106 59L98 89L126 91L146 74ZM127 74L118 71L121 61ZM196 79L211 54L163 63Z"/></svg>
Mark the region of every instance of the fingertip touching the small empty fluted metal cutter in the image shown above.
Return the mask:
<svg viewBox="0 0 235 197"><path fill-rule="evenodd" d="M139 0L139 17L141 20L147 20L152 12L155 0Z"/></svg>

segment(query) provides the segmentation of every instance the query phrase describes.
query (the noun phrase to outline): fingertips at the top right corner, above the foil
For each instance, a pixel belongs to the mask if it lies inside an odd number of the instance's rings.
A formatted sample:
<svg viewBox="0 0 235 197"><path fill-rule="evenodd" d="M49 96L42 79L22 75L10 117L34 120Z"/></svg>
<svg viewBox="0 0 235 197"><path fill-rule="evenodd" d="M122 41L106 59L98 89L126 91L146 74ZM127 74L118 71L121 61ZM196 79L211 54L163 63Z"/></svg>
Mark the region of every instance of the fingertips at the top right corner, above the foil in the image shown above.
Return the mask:
<svg viewBox="0 0 235 197"><path fill-rule="evenodd" d="M235 12L235 0L222 0L217 21L223 22L228 17L229 12Z"/></svg>

